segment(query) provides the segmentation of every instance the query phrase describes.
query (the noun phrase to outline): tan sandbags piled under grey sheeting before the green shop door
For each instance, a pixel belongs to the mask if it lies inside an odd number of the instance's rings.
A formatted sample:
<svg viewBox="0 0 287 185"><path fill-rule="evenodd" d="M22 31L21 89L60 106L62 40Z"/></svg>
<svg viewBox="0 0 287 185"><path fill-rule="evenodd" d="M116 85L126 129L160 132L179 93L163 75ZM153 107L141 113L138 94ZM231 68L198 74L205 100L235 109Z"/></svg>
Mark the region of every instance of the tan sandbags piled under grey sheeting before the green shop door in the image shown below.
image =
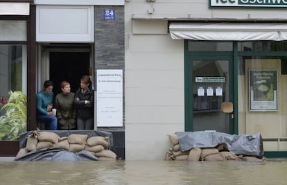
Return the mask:
<svg viewBox="0 0 287 185"><path fill-rule="evenodd" d="M177 134L168 134L173 146L166 152L166 160L177 161L225 161L241 159L232 152L229 152L224 143L214 148L191 148L182 152Z"/></svg>

